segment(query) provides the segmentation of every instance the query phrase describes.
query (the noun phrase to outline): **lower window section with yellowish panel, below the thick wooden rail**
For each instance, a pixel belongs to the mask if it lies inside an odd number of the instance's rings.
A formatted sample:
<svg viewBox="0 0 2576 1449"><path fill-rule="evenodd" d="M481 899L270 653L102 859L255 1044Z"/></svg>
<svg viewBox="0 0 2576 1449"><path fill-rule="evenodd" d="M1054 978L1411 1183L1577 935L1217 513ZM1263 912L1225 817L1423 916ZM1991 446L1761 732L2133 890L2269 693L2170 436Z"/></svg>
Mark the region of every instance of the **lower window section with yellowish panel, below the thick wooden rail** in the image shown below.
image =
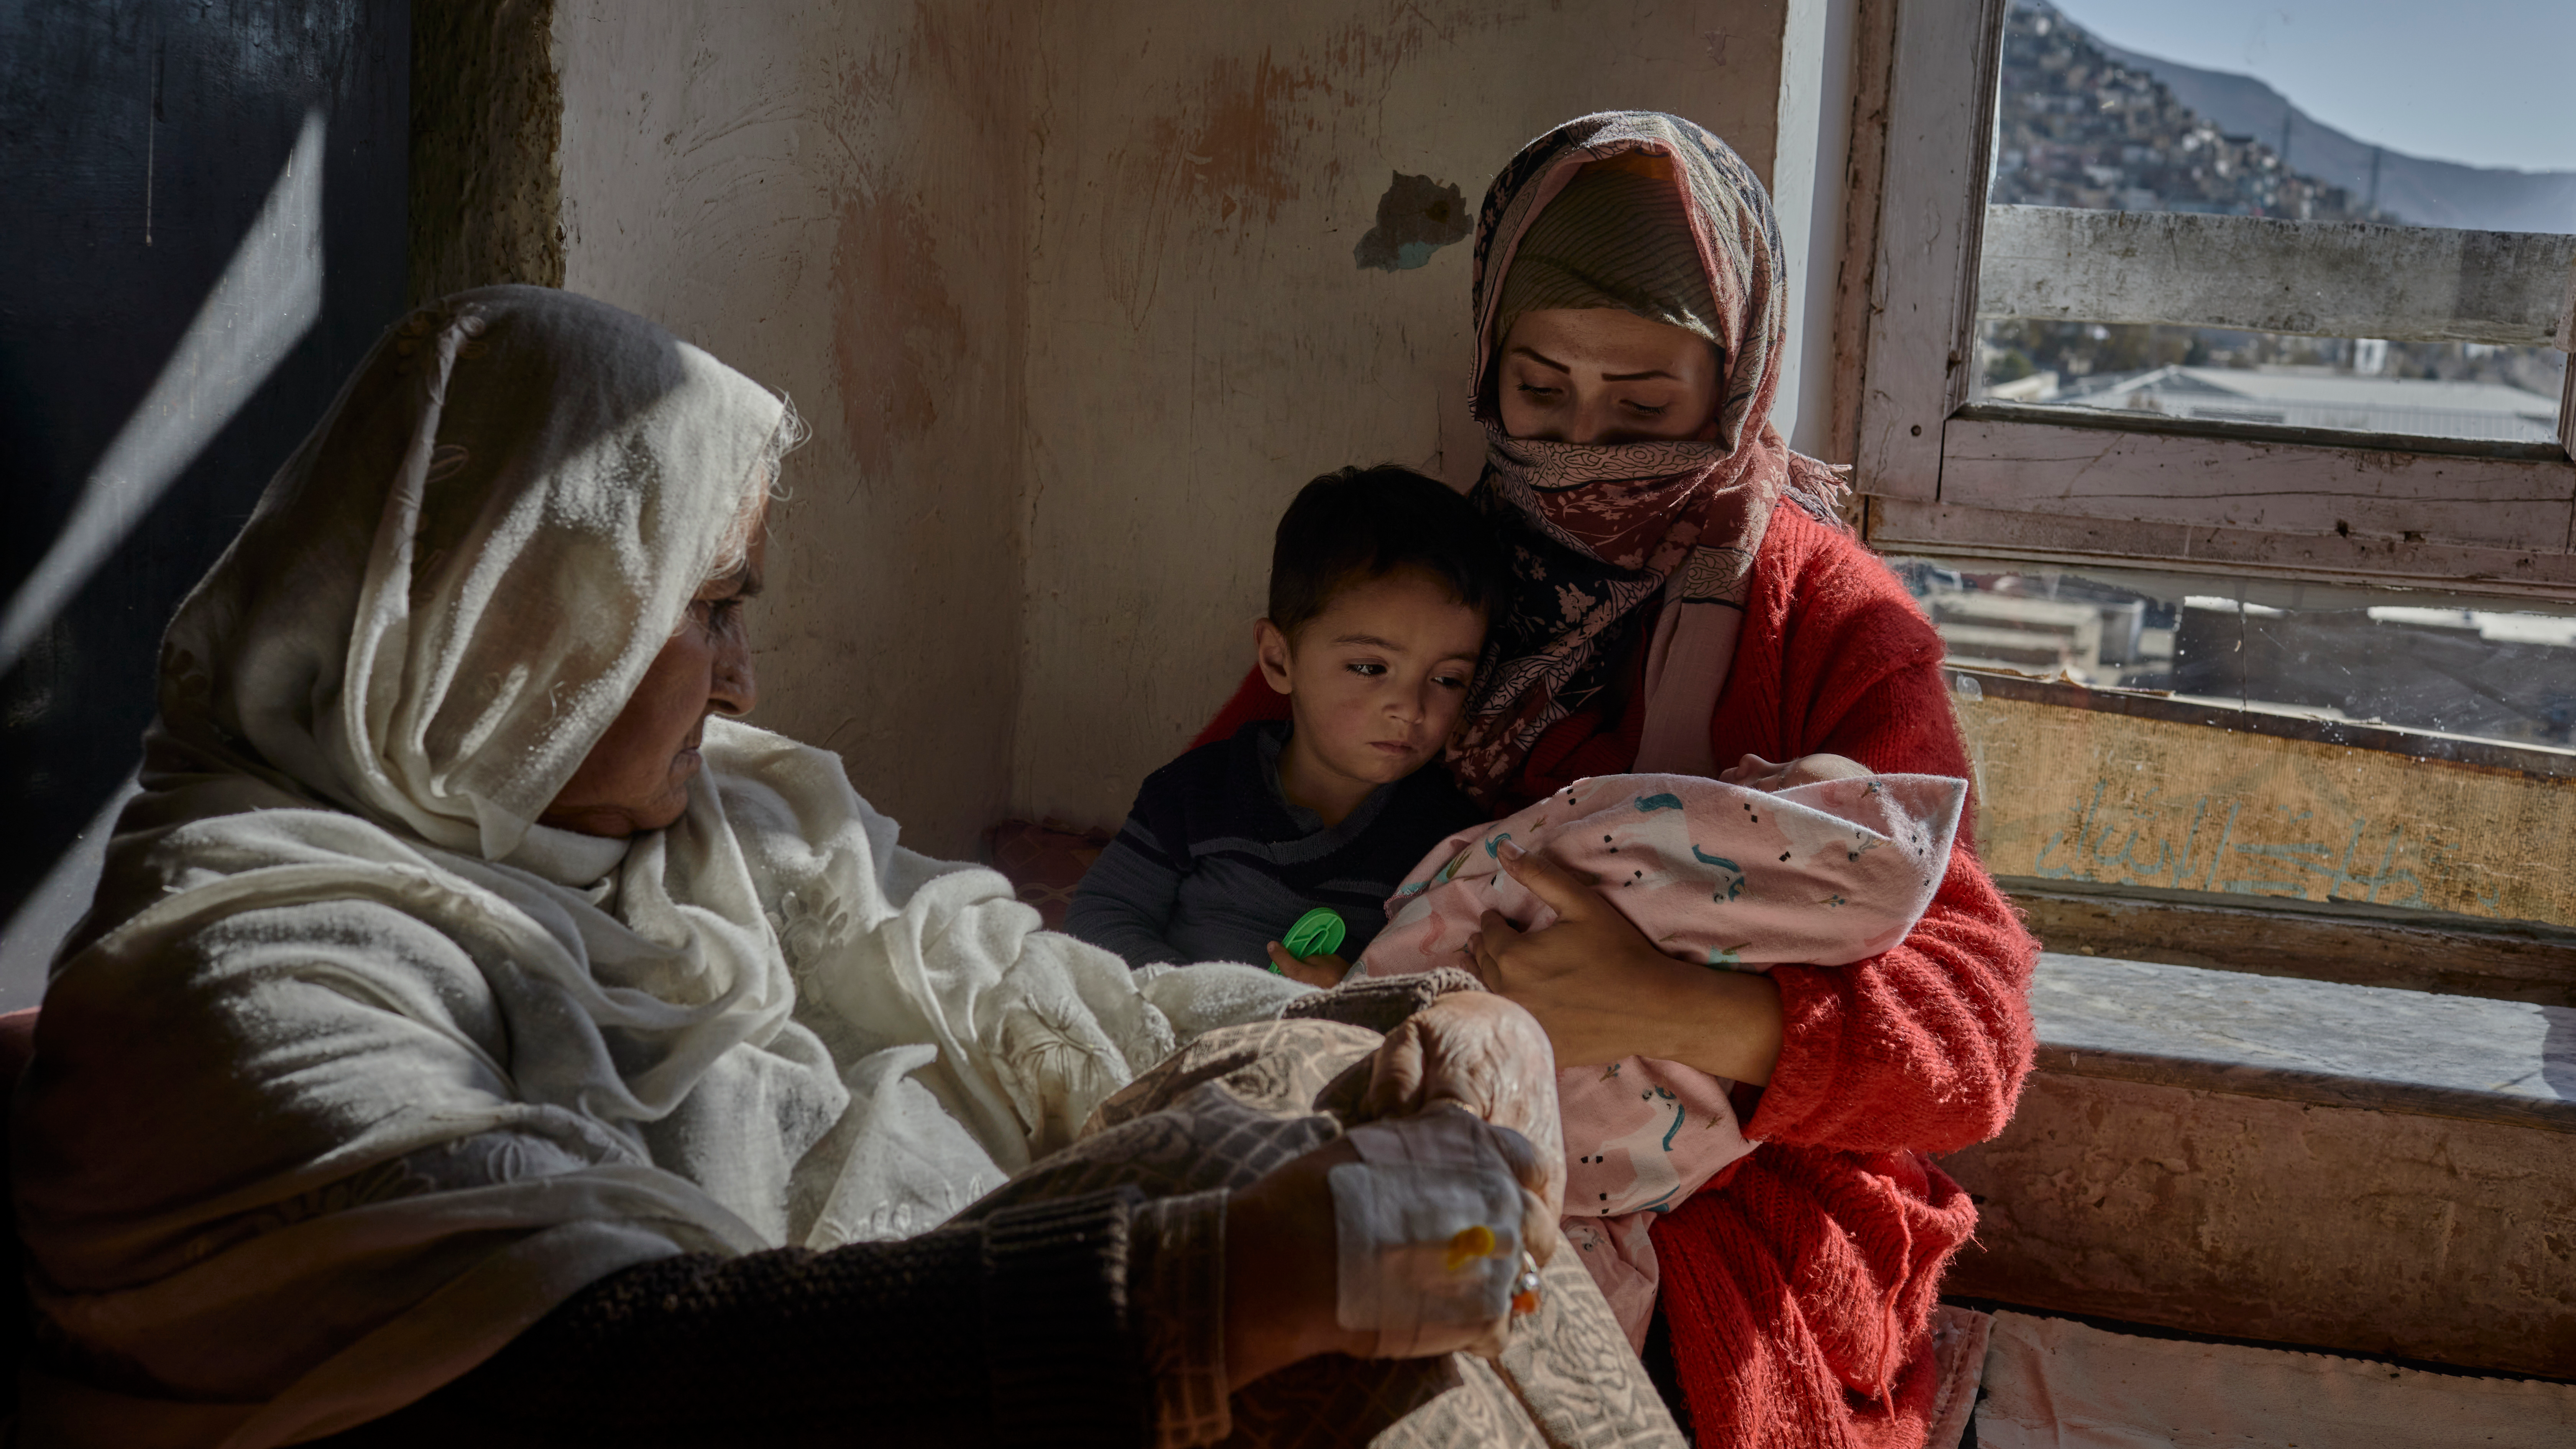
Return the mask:
<svg viewBox="0 0 2576 1449"><path fill-rule="evenodd" d="M2030 890L2576 923L2576 606L1891 557ZM2403 603L2391 603L2403 598Z"/></svg>

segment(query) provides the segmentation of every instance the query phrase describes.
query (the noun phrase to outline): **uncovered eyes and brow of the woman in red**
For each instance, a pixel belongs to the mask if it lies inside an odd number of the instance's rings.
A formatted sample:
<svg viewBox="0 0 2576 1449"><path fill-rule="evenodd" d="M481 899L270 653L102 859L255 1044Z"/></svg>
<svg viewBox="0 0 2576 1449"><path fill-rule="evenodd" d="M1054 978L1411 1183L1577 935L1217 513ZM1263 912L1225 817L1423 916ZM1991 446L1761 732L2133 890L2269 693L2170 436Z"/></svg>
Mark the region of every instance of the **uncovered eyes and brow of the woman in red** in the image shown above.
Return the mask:
<svg viewBox="0 0 2576 1449"><path fill-rule="evenodd" d="M1502 431L1551 443L1698 438L1718 415L1716 343L1613 307L1522 312L1502 343Z"/></svg>

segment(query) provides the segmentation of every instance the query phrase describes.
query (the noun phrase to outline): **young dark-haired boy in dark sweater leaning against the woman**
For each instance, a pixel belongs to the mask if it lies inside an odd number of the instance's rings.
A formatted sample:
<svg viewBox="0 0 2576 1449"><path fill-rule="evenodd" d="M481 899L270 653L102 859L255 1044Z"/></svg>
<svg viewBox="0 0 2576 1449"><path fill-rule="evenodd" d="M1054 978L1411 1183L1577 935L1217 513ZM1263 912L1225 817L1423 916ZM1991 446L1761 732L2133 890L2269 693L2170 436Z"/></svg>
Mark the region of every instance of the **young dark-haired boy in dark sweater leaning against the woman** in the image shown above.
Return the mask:
<svg viewBox="0 0 2576 1449"><path fill-rule="evenodd" d="M1309 482L1270 552L1252 627L1291 719L1244 724L1146 776L1064 915L1146 962L1252 962L1314 985L1386 926L1386 897L1484 812L1437 766L1510 565L1466 498L1401 467ZM1316 905L1340 951L1280 946Z"/></svg>

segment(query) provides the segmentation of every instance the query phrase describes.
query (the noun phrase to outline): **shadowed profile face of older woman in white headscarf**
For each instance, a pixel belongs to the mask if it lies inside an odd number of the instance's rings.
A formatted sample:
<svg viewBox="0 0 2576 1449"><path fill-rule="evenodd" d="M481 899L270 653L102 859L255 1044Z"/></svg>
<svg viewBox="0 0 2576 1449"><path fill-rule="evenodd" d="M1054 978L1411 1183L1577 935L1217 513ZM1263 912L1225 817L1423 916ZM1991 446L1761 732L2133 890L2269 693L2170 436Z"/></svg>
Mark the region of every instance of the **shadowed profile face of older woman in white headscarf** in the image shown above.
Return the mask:
<svg viewBox="0 0 2576 1449"><path fill-rule="evenodd" d="M644 683L538 817L544 825L623 841L680 820L706 717L750 714L760 699L742 611L760 593L765 554L768 529L755 523L744 565L698 588L680 629L644 670Z"/></svg>

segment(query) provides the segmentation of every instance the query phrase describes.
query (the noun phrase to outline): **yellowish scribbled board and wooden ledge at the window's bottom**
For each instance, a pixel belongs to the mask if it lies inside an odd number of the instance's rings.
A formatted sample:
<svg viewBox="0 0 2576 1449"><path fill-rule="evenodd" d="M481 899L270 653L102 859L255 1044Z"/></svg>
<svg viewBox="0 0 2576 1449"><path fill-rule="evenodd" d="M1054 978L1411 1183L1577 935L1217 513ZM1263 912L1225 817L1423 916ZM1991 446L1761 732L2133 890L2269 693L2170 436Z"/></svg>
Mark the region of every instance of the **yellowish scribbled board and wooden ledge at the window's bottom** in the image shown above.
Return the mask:
<svg viewBox="0 0 2576 1449"><path fill-rule="evenodd" d="M2563 820L2576 750L1984 668L1950 686L1978 848L2048 949L2576 1006L2568 892L2509 846Z"/></svg>

